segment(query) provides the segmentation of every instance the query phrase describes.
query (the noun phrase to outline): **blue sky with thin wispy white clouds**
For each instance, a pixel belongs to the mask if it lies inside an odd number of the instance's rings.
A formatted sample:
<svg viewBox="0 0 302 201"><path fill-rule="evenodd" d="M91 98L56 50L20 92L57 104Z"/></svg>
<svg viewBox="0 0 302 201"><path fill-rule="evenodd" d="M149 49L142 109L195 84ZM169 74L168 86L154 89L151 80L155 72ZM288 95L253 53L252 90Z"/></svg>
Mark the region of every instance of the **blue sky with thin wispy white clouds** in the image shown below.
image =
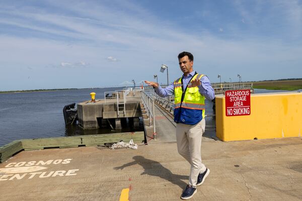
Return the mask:
<svg viewBox="0 0 302 201"><path fill-rule="evenodd" d="M2 1L0 91L302 77L302 1Z"/></svg>

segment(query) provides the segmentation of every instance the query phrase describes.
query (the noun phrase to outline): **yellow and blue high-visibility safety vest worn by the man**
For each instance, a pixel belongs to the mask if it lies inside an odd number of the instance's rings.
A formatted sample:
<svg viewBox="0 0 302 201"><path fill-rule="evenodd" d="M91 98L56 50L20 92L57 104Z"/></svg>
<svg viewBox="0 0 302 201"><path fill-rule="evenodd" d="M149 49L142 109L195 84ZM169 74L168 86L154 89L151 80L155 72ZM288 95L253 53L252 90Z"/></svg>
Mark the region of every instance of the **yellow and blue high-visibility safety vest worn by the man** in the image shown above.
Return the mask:
<svg viewBox="0 0 302 201"><path fill-rule="evenodd" d="M195 73L191 80L201 79L202 76L204 75ZM183 89L182 77L174 81L174 121L176 123L194 125L205 117L205 97L199 93L198 86L190 87L191 80L185 89ZM184 93L183 90L185 90Z"/></svg>

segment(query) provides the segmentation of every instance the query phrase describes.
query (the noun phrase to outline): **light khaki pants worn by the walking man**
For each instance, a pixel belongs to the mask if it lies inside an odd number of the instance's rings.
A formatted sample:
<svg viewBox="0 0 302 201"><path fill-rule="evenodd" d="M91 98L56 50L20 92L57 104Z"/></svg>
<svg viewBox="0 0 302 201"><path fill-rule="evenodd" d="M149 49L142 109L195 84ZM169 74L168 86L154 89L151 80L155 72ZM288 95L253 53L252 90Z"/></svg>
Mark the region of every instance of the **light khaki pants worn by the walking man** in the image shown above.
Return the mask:
<svg viewBox="0 0 302 201"><path fill-rule="evenodd" d="M204 129L204 119L195 125L178 123L176 126L178 153L191 164L189 184L193 187L196 187L198 174L206 170L204 164L201 163L200 153L201 139Z"/></svg>

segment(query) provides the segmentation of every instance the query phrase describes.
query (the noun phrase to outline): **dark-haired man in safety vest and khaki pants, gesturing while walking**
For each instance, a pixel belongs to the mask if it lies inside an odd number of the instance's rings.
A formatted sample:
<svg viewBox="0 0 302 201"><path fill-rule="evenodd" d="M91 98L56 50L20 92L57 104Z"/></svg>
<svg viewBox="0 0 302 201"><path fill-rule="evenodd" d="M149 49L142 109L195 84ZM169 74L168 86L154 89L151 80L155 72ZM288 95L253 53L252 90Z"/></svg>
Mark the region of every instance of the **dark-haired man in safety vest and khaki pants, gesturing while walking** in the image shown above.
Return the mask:
<svg viewBox="0 0 302 201"><path fill-rule="evenodd" d="M214 99L214 90L207 76L193 70L193 55L182 52L178 55L179 66L184 73L166 88L158 83L145 81L153 86L158 95L166 97L174 94L174 121L178 153L190 164L189 184L181 194L182 199L190 199L197 192L196 187L204 182L210 170L201 162L201 139L205 129L205 98Z"/></svg>

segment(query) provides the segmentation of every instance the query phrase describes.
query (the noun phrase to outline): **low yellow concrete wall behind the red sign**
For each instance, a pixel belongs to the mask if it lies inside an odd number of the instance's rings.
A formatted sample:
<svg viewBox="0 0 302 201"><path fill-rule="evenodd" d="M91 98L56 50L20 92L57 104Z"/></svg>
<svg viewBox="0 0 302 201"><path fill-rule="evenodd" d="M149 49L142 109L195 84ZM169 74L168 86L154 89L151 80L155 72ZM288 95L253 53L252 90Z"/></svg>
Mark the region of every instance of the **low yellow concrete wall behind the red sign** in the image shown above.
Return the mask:
<svg viewBox="0 0 302 201"><path fill-rule="evenodd" d="M251 115L225 116L225 97L216 97L216 137L238 141L300 137L302 93L251 95Z"/></svg>

